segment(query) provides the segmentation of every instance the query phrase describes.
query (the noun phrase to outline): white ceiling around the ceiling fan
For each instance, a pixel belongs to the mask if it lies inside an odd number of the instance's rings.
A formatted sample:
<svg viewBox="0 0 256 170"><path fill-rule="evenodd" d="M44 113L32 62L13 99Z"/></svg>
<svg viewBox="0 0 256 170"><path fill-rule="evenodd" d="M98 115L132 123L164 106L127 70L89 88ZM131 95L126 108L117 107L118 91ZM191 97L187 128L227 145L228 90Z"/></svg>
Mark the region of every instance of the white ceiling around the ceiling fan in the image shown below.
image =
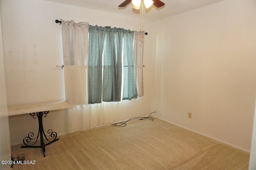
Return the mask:
<svg viewBox="0 0 256 170"><path fill-rule="evenodd" d="M62 4L68 4L73 6L79 6L83 8L90 8L94 10L100 10L105 12L112 12L121 15L139 15L140 10L134 10L131 3L124 8L119 8L124 0L48 0L52 2L58 2ZM156 8L152 6L147 10L144 10L143 17L147 20L158 20L180 14L182 12L201 8L206 5L214 4L222 0L161 0L165 3L165 6Z"/></svg>

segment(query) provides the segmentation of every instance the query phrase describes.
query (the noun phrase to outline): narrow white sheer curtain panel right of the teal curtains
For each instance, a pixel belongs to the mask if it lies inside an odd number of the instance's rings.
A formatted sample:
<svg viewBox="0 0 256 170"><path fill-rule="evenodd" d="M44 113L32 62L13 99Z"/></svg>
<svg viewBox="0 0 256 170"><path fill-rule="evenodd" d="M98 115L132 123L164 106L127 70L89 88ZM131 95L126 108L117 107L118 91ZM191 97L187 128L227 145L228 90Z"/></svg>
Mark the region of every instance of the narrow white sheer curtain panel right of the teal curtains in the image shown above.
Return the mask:
<svg viewBox="0 0 256 170"><path fill-rule="evenodd" d="M144 48L144 31L134 31L133 43L134 43L134 65L143 65L143 48ZM143 38L142 38L143 36ZM135 67L135 81L138 97L144 96L143 89L143 67Z"/></svg>

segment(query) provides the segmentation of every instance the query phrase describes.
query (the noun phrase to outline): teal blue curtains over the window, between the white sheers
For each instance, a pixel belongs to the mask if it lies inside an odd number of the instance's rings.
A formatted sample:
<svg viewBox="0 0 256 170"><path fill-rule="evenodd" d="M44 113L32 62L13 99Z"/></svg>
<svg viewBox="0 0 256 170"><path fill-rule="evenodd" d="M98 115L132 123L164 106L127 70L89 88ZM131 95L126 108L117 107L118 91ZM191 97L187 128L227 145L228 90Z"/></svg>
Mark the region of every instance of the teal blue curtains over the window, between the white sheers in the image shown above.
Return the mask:
<svg viewBox="0 0 256 170"><path fill-rule="evenodd" d="M122 99L137 98L134 71L133 32L89 26L88 103L121 101L122 79Z"/></svg>

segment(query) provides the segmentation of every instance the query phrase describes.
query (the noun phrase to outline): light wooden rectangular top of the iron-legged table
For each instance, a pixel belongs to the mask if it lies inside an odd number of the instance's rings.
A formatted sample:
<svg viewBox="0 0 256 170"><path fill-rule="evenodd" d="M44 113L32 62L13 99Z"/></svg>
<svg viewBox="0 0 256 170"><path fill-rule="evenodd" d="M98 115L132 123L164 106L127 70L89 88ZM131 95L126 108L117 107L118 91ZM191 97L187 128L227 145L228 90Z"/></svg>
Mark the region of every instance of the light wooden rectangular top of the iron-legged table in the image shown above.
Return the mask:
<svg viewBox="0 0 256 170"><path fill-rule="evenodd" d="M26 113L35 113L42 111L53 111L59 109L67 109L72 106L66 101L54 101L54 102L43 102L43 103L30 103L22 105L11 105L8 106L8 115L22 115Z"/></svg>

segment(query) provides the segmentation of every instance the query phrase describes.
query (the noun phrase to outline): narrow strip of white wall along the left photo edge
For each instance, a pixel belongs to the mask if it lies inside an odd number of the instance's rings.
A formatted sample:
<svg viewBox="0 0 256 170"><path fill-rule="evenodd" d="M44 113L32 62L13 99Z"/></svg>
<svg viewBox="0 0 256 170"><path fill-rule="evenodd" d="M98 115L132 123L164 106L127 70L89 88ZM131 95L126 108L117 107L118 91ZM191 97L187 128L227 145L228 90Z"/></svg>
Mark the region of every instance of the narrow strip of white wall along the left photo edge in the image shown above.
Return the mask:
<svg viewBox="0 0 256 170"><path fill-rule="evenodd" d="M0 15L1 18L1 15ZM10 160L11 145L6 98L6 82L4 71L4 53L2 44L2 24L0 19L0 160ZM1 170L11 169L10 165L0 164Z"/></svg>

